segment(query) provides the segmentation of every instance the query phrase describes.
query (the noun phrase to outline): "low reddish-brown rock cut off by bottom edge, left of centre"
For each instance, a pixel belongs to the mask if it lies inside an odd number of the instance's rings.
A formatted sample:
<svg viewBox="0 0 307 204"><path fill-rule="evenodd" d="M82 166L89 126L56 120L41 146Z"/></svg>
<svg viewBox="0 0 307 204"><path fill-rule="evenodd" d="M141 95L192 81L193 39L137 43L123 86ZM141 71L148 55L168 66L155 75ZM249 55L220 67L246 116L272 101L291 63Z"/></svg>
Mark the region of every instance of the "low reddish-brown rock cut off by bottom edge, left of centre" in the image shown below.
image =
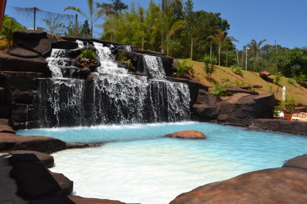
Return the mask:
<svg viewBox="0 0 307 204"><path fill-rule="evenodd" d="M80 196L60 196L42 198L39 200L30 201L29 204L127 204L117 200L98 199L98 198L83 198Z"/></svg>

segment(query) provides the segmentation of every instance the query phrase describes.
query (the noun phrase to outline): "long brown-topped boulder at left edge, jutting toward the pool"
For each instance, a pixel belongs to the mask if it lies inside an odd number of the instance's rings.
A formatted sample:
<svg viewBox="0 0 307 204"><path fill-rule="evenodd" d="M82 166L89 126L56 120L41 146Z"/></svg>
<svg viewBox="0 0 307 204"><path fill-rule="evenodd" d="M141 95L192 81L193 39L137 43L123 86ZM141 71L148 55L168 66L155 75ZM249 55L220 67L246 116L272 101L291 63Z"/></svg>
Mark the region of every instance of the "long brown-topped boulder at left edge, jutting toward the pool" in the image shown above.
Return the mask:
<svg viewBox="0 0 307 204"><path fill-rule="evenodd" d="M0 152L31 150L49 154L63 149L66 149L66 143L55 138L0 133Z"/></svg>

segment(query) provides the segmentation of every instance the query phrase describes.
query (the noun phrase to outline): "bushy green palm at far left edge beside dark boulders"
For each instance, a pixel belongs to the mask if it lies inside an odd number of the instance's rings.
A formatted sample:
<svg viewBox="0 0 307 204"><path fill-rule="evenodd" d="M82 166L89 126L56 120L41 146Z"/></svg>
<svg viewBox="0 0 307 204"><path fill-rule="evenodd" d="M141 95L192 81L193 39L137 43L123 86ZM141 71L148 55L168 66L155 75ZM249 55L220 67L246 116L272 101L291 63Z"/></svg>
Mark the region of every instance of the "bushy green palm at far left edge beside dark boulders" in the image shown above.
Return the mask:
<svg viewBox="0 0 307 204"><path fill-rule="evenodd" d="M10 49L10 45L13 41L14 32L22 29L25 28L19 23L17 23L13 18L8 17L7 15L3 17L0 38L6 40L7 49Z"/></svg>

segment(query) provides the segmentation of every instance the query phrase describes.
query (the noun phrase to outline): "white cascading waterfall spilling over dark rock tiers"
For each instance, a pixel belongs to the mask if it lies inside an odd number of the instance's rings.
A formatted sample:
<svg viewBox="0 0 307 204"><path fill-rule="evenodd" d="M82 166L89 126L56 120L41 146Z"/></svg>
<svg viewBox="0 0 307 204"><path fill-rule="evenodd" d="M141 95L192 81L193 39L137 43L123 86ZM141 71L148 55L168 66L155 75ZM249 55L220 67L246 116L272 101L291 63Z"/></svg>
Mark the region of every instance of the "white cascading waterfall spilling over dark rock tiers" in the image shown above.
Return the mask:
<svg viewBox="0 0 307 204"><path fill-rule="evenodd" d="M112 46L93 42L101 65L91 73L91 80L82 80L75 57L89 44L76 42L78 49L52 49L46 59L52 78L38 79L35 95L40 127L189 119L188 86L165 81L159 57L142 55L144 70L152 78L148 80L119 67L111 54Z"/></svg>

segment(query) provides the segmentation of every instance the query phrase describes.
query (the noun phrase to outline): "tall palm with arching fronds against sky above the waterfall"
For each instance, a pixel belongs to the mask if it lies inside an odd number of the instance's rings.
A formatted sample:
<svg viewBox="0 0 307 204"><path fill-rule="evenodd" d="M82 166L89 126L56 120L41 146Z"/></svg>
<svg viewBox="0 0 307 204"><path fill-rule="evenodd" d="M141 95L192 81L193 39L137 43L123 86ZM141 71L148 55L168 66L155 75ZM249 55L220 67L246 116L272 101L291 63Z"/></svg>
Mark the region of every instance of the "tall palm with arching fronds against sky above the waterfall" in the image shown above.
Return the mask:
<svg viewBox="0 0 307 204"><path fill-rule="evenodd" d="M75 6L68 6L64 9L64 11L68 9L74 10L78 13L81 13L84 17L86 17L91 23L91 37L93 37L93 23L95 23L95 21L97 21L103 14L107 13L107 10L106 9L96 10L94 7L93 0L87 0L87 6L88 6L89 16L83 11L81 11L81 9L76 8Z"/></svg>

